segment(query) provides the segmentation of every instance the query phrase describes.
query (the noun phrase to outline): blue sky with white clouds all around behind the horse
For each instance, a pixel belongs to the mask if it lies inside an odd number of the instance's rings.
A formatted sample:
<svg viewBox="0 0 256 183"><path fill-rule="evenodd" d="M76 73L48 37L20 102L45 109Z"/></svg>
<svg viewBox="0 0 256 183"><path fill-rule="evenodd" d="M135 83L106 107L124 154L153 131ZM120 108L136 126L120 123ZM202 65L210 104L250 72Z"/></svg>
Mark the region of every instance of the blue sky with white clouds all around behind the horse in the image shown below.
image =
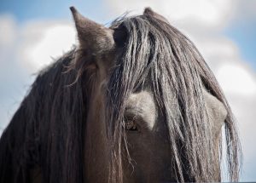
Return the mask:
<svg viewBox="0 0 256 183"><path fill-rule="evenodd" d="M256 180L256 1L253 0L1 0L0 134L40 68L76 43L70 6L108 25L125 11L150 6L200 49L237 118L241 180Z"/></svg>

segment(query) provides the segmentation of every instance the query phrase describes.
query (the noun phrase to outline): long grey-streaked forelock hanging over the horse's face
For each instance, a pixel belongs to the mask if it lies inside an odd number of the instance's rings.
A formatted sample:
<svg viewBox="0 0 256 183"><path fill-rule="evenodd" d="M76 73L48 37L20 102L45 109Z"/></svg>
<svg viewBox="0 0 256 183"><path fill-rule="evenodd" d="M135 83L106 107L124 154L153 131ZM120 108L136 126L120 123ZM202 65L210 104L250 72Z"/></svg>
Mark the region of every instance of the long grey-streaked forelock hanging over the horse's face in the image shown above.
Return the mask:
<svg viewBox="0 0 256 183"><path fill-rule="evenodd" d="M213 135L202 89L220 100L228 115L224 121L230 180L238 180L240 143L230 106L207 63L180 31L149 15L122 17L111 28L125 31L125 42L108 83L108 134L112 147L111 182L122 181L125 144L125 101L144 84L152 83L154 98L165 117L172 151L172 174L177 181L213 180ZM222 153L222 138L219 138ZM221 158L219 158L219 162ZM171 173L171 172L170 172Z"/></svg>

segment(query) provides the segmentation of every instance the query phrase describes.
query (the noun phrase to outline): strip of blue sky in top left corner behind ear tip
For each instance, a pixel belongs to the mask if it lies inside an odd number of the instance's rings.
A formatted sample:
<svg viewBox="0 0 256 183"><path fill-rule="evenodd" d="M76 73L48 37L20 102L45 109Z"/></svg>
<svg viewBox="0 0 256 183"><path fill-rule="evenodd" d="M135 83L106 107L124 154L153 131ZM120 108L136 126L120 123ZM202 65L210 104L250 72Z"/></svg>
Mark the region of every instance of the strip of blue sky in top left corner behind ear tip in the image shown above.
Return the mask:
<svg viewBox="0 0 256 183"><path fill-rule="evenodd" d="M106 15L108 12L104 9L102 0L44 0L44 3L43 1L38 0L1 0L0 13L14 14L15 19L18 20L19 23L38 19L70 19L70 14L68 12L70 6L79 7L82 14L90 16L96 21L106 21L106 16L104 17L104 14Z"/></svg>

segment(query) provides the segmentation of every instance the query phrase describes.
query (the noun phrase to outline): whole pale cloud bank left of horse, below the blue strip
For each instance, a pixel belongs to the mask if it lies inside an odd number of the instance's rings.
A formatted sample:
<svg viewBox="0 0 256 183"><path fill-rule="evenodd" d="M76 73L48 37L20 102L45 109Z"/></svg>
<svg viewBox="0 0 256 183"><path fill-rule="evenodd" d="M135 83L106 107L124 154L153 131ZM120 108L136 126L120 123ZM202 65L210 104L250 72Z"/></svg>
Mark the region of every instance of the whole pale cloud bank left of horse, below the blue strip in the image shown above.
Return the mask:
<svg viewBox="0 0 256 183"><path fill-rule="evenodd" d="M18 25L11 15L0 16L0 135L34 77L44 66L73 47L71 22L41 21Z"/></svg>

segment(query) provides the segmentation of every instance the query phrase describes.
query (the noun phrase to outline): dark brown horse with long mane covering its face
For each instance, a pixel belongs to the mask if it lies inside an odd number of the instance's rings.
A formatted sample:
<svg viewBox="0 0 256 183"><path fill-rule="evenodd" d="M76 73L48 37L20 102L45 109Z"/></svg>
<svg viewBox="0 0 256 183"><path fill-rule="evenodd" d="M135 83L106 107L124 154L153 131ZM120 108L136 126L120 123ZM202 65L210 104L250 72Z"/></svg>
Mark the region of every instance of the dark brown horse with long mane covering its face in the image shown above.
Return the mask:
<svg viewBox="0 0 256 183"><path fill-rule="evenodd" d="M0 182L221 181L224 155L237 181L235 117L189 38L150 8L109 27L70 9L79 43L3 131Z"/></svg>

